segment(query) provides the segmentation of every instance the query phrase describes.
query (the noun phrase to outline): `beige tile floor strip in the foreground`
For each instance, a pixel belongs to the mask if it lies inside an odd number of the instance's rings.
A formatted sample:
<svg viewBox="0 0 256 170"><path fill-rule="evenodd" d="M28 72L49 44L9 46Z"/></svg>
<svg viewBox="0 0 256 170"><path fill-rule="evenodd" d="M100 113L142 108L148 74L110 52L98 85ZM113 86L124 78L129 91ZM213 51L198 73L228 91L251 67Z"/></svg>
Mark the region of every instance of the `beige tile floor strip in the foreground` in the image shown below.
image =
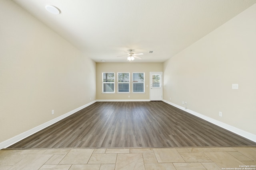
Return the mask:
<svg viewBox="0 0 256 170"><path fill-rule="evenodd" d="M0 170L256 170L256 147L0 150Z"/></svg>

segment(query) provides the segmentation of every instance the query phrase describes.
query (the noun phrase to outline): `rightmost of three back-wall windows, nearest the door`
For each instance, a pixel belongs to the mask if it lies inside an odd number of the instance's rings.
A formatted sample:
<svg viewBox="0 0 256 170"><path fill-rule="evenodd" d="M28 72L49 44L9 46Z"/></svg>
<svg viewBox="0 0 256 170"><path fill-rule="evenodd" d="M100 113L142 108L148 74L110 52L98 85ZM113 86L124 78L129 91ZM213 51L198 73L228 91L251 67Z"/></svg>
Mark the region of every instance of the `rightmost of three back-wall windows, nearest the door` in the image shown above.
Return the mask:
<svg viewBox="0 0 256 170"><path fill-rule="evenodd" d="M132 91L133 92L144 92L144 72L132 73Z"/></svg>

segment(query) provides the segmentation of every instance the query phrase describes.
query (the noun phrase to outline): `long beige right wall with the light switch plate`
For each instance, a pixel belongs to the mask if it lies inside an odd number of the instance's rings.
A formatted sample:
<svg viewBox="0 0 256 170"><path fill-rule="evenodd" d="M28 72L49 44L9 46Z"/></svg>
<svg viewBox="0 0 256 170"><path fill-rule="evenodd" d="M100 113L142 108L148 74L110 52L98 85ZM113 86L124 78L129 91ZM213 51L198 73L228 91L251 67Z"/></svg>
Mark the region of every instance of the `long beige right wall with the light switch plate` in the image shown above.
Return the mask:
<svg viewBox="0 0 256 170"><path fill-rule="evenodd" d="M256 5L166 61L164 100L256 135L255 18Z"/></svg>

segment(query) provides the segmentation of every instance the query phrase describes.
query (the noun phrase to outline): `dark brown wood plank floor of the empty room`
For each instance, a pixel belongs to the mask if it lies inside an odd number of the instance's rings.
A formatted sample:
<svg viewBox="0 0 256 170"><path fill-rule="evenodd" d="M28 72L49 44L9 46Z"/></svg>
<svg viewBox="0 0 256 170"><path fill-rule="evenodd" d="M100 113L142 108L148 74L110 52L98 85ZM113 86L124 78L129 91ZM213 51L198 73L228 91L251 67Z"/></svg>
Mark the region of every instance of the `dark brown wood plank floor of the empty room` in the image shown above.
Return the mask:
<svg viewBox="0 0 256 170"><path fill-rule="evenodd" d="M9 148L256 146L164 102L96 102Z"/></svg>

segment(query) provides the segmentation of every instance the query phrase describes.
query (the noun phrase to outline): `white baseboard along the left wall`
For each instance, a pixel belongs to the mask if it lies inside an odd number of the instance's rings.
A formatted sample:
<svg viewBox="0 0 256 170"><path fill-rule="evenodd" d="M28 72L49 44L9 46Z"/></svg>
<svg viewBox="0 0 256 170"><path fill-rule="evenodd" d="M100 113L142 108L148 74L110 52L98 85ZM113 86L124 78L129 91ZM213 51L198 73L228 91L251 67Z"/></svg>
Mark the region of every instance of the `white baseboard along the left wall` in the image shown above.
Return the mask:
<svg viewBox="0 0 256 170"><path fill-rule="evenodd" d="M84 106L81 106L81 107L78 107L72 111L69 111L68 113L65 113L64 115L61 115L59 117L56 117L46 123L43 123L42 125L39 125L37 127L34 127L33 129L30 129L24 133L21 133L20 135L17 135L15 137L12 137L11 139L8 139L6 141L3 141L0 143L0 149L3 149L3 148L7 148L11 145L13 145L14 143L17 143L18 141L21 141L22 139L25 139L26 137L29 137L30 135L33 135L34 133L64 119L65 117L68 117L69 115L72 115L74 113L76 113L77 111L81 110L81 109L84 109L85 107L87 106L90 106L91 104L94 104L95 102L97 102L96 100L94 100L93 102L90 102L88 104L85 104Z"/></svg>

